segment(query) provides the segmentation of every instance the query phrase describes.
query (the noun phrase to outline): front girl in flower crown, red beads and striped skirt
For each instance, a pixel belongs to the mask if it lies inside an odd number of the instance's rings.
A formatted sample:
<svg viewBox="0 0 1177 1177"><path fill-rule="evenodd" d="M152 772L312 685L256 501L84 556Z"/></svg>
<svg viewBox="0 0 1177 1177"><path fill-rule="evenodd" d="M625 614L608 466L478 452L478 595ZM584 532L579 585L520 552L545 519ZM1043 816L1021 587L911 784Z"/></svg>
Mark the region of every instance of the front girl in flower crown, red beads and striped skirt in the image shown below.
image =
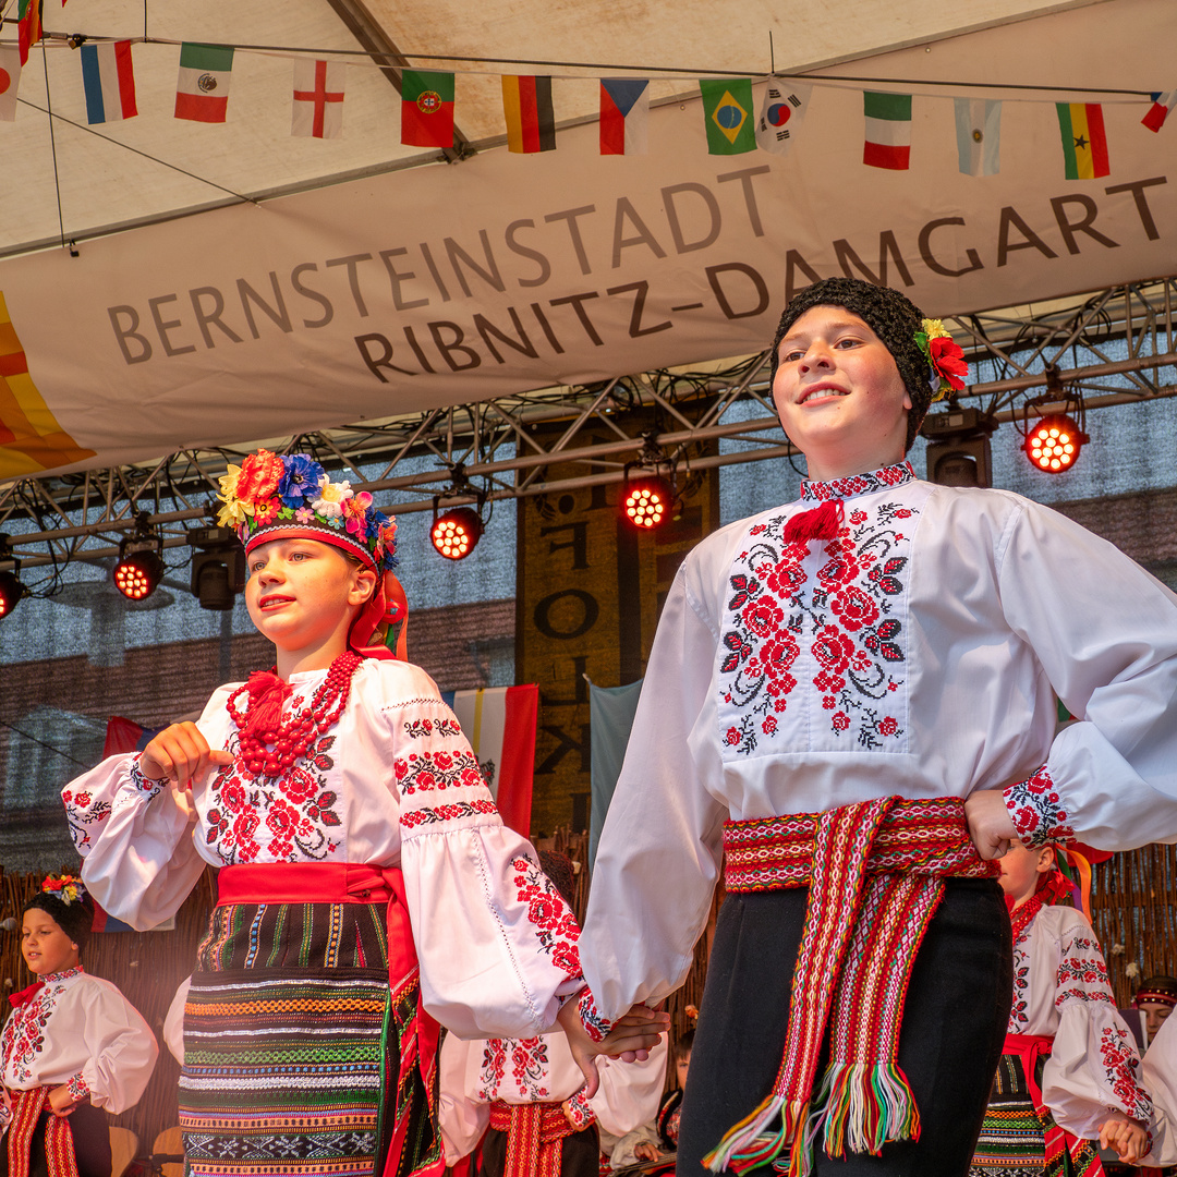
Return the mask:
<svg viewBox="0 0 1177 1177"><path fill-rule="evenodd" d="M250 454L221 498L275 666L67 786L84 877L149 927L220 867L184 1016L189 1175L438 1173L438 1023L547 1030L584 989L577 924L393 657L395 523L307 454ZM607 1049L659 1028L637 1011Z"/></svg>

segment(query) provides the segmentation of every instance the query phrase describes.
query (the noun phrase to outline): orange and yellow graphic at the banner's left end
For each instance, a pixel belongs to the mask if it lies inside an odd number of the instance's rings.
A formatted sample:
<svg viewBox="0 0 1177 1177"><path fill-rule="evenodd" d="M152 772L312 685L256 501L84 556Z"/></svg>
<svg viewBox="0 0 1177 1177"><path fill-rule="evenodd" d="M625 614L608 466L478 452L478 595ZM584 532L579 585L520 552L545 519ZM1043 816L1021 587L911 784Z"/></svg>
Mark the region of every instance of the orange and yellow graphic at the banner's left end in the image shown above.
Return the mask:
<svg viewBox="0 0 1177 1177"><path fill-rule="evenodd" d="M28 360L0 291L0 479L93 458L58 425L28 374Z"/></svg>

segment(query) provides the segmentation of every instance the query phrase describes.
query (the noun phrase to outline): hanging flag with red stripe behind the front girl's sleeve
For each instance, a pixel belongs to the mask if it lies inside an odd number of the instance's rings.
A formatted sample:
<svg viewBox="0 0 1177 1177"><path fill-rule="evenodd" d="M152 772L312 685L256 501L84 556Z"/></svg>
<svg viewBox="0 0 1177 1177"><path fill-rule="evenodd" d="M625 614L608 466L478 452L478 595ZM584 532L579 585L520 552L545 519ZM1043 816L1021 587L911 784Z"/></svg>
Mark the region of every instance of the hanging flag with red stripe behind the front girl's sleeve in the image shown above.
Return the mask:
<svg viewBox="0 0 1177 1177"><path fill-rule="evenodd" d="M453 709L474 750L503 824L530 837L539 687L528 683L481 691L443 691L441 698Z"/></svg>

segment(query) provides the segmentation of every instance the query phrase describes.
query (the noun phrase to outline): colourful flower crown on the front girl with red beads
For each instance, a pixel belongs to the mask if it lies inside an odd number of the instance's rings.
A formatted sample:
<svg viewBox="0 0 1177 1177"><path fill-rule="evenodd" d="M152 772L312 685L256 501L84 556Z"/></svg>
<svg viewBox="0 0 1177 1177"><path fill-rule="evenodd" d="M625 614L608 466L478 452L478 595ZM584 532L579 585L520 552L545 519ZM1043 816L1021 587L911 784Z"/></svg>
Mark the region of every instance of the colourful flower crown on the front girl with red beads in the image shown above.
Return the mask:
<svg viewBox="0 0 1177 1177"><path fill-rule="evenodd" d="M310 454L251 453L220 479L217 523L235 527L245 550L281 536L321 539L377 572L397 566L397 520L372 506L367 491L333 483Z"/></svg>

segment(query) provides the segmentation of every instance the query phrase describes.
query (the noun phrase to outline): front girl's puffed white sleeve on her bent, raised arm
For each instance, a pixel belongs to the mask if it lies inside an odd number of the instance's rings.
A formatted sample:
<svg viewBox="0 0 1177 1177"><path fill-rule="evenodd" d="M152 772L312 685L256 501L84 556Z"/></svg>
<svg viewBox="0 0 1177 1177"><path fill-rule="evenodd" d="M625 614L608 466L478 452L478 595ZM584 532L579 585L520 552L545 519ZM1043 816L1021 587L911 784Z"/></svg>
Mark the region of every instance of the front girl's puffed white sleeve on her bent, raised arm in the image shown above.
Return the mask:
<svg viewBox="0 0 1177 1177"><path fill-rule="evenodd" d="M210 717L230 687L210 699L198 723L220 746ZM198 786L199 787L199 786ZM81 877L112 916L140 931L174 916L205 869L192 840L197 813L188 794L139 771L139 753L107 757L61 791Z"/></svg>

